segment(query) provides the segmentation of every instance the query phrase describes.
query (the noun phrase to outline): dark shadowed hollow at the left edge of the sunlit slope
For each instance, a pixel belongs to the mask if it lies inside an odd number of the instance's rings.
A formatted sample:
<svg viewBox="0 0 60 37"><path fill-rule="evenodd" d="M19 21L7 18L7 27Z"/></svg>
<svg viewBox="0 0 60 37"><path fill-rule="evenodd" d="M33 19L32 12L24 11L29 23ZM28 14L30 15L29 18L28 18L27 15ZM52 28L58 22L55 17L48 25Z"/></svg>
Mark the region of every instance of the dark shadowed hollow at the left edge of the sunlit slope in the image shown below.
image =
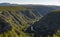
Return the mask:
<svg viewBox="0 0 60 37"><path fill-rule="evenodd" d="M12 30L12 26L4 19L0 18L0 34L4 34Z"/></svg>

